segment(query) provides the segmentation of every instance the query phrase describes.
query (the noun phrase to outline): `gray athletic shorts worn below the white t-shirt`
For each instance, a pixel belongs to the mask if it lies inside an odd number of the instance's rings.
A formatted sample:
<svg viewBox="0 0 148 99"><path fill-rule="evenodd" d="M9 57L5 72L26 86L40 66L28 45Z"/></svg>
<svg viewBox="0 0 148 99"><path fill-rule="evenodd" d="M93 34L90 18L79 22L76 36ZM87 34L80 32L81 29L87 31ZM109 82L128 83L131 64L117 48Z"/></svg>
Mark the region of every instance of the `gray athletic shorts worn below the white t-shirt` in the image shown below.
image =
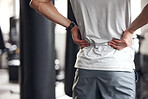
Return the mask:
<svg viewBox="0 0 148 99"><path fill-rule="evenodd" d="M135 99L135 72L77 69L73 99Z"/></svg>

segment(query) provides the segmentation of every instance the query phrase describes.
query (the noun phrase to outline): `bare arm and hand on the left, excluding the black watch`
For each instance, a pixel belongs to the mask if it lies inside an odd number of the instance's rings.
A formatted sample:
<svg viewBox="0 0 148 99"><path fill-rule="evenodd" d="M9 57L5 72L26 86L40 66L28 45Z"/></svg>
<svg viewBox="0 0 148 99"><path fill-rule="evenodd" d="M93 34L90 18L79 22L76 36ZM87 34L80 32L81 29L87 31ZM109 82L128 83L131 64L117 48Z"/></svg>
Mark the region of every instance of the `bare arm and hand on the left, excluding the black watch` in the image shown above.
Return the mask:
<svg viewBox="0 0 148 99"><path fill-rule="evenodd" d="M30 7L49 20L64 27L68 27L71 21L61 15L51 1L52 0L31 0ZM81 48L89 46L86 40L81 40L80 30L76 25L71 29L71 32L74 43L78 44Z"/></svg>

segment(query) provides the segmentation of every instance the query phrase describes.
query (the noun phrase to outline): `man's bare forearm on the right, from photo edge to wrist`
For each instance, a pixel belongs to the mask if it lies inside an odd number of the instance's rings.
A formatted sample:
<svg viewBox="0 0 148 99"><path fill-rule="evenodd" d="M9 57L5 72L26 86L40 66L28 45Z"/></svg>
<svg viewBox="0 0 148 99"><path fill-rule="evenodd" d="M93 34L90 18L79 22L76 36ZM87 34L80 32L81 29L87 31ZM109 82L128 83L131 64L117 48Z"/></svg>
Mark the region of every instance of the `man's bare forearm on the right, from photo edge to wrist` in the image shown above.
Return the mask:
<svg viewBox="0 0 148 99"><path fill-rule="evenodd" d="M141 28L148 23L148 4L144 7L140 15L131 23L127 31L134 33L137 29Z"/></svg>

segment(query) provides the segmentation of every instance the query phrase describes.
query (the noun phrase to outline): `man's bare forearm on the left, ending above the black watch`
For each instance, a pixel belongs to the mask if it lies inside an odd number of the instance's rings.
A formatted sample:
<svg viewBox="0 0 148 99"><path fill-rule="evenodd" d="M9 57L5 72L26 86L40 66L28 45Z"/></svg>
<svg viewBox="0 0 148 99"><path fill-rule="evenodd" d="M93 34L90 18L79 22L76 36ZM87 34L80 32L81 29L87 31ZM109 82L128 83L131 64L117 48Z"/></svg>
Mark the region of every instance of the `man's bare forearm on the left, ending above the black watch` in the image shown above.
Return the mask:
<svg viewBox="0 0 148 99"><path fill-rule="evenodd" d="M30 2L30 7L38 11L40 14L48 18L49 20L60 24L64 27L68 27L71 21L61 15L54 5L48 0L32 0Z"/></svg>

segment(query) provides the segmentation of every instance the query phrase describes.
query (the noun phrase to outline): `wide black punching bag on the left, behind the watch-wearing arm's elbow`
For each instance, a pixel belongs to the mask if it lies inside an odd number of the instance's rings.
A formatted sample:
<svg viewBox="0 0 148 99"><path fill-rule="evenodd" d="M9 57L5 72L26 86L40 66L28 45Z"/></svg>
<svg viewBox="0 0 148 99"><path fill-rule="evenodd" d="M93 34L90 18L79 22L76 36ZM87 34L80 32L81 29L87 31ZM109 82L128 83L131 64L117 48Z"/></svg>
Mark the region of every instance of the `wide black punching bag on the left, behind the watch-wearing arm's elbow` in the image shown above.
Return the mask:
<svg viewBox="0 0 148 99"><path fill-rule="evenodd" d="M55 99L54 24L20 1L20 99Z"/></svg>

